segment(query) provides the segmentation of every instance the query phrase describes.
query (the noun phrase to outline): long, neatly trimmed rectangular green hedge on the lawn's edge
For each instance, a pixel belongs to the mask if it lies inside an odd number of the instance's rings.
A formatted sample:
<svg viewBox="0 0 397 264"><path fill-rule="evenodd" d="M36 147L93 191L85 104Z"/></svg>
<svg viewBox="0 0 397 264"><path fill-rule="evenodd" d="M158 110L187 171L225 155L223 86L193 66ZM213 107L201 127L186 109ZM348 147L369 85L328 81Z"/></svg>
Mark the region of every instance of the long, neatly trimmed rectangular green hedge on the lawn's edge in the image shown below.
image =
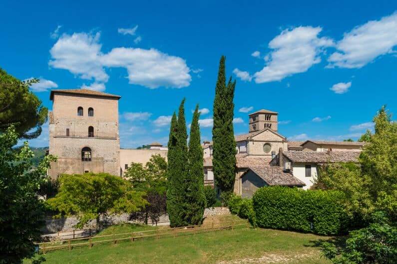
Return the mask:
<svg viewBox="0 0 397 264"><path fill-rule="evenodd" d="M334 235L346 232L344 194L339 191L263 187L253 198L260 227Z"/></svg>

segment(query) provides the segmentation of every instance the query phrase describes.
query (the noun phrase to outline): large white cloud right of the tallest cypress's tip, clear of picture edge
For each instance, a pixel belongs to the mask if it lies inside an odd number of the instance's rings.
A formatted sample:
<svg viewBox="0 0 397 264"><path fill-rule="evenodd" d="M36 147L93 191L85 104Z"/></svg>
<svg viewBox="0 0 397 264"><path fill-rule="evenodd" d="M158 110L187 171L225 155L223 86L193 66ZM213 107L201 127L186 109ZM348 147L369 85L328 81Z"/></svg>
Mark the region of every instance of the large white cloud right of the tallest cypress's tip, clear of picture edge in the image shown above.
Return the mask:
<svg viewBox="0 0 397 264"><path fill-rule="evenodd" d="M266 66L254 74L255 82L279 81L320 63L324 48L334 45L332 39L318 37L321 31L321 27L312 26L283 30L269 42L273 51L265 57Z"/></svg>

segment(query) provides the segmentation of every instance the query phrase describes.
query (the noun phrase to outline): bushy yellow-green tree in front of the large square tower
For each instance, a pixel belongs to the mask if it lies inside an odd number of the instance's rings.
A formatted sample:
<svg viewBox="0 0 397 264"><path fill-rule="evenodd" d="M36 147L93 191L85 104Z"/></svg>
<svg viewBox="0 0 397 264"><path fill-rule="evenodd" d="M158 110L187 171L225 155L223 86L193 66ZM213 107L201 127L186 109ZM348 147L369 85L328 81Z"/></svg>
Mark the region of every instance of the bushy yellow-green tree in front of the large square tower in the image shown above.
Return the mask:
<svg viewBox="0 0 397 264"><path fill-rule="evenodd" d="M76 215L76 227L96 220L98 229L101 215L133 213L147 204L144 192L133 190L129 181L108 173L63 174L59 182L59 192L47 204L59 212L56 217Z"/></svg>

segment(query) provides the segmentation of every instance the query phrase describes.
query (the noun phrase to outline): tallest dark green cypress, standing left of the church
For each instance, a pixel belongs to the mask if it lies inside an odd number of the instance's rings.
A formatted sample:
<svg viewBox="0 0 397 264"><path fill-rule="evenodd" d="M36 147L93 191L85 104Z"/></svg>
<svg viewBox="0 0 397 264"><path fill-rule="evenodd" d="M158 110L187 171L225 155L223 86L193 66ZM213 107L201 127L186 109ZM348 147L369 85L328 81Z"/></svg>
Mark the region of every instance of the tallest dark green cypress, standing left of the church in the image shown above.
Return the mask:
<svg viewBox="0 0 397 264"><path fill-rule="evenodd" d="M219 62L215 87L213 140L213 169L215 185L221 191L233 189L236 166L236 142L233 131L234 90L236 81L226 85L225 56Z"/></svg>

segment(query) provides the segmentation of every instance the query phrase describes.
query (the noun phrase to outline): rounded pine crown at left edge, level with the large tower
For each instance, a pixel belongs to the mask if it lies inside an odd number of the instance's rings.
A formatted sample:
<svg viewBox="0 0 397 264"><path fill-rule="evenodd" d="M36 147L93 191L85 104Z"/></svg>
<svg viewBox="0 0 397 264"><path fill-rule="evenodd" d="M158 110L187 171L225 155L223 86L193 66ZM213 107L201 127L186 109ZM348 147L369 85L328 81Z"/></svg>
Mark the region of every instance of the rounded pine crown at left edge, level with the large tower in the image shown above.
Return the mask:
<svg viewBox="0 0 397 264"><path fill-rule="evenodd" d="M14 125L19 138L40 135L48 109L29 91L29 86L37 82L37 79L20 81L0 68L0 132ZM31 129L35 131L29 132Z"/></svg>

